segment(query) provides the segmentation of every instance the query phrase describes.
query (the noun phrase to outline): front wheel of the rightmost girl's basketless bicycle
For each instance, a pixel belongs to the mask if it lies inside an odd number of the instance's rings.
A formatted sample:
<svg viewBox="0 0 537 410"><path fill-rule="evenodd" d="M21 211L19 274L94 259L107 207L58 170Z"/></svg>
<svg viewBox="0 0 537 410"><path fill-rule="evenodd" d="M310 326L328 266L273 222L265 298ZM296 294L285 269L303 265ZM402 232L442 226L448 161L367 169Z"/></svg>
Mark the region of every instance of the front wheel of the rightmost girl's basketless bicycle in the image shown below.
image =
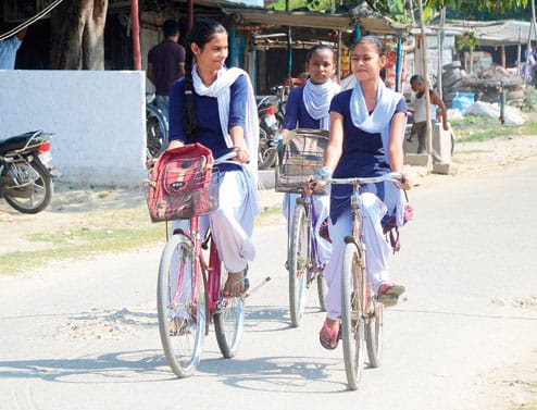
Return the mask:
<svg viewBox="0 0 537 410"><path fill-rule="evenodd" d="M347 383L352 390L358 388L365 359L363 256L357 244L346 245L341 277L341 341Z"/></svg>

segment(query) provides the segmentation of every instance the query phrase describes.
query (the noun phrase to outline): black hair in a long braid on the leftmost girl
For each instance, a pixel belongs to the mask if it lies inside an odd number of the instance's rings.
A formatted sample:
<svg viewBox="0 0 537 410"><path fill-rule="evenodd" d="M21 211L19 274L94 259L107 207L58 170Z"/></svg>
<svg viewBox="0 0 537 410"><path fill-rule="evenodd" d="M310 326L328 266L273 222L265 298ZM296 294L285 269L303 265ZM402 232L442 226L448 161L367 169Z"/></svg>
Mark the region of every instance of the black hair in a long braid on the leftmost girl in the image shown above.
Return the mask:
<svg viewBox="0 0 537 410"><path fill-rule="evenodd" d="M192 42L200 50L212 40L216 34L226 34L225 27L212 20L197 21L186 37L186 58L185 58L185 109L183 111L183 123L185 124L185 133L189 141L193 140L196 131L196 104L193 103L193 84L192 84L192 66L193 52L191 49Z"/></svg>

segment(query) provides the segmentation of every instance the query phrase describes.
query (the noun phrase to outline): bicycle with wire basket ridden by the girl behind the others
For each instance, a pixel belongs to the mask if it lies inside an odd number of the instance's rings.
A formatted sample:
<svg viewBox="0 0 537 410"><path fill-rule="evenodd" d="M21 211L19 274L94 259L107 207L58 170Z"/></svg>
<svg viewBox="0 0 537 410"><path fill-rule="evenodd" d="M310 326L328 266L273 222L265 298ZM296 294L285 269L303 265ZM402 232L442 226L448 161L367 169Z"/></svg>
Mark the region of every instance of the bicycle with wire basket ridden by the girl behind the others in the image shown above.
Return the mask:
<svg viewBox="0 0 537 410"><path fill-rule="evenodd" d="M326 310L324 264L315 237L317 215L313 197L304 192L303 181L312 170L322 165L327 141L328 134L322 129L298 128L289 132L284 142L282 165L276 170L276 191L300 195L296 199L291 231L287 237L286 262L289 272L289 313L295 327L302 321L305 291L313 283L316 283L321 310Z"/></svg>

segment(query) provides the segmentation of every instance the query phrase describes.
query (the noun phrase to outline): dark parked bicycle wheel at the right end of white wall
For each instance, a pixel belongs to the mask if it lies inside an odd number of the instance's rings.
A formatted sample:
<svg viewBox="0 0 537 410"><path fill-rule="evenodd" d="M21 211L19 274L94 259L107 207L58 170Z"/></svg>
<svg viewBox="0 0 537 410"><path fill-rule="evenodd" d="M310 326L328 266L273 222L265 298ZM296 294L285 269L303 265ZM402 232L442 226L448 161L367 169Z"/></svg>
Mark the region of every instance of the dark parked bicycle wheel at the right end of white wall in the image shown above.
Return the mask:
<svg viewBox="0 0 537 410"><path fill-rule="evenodd" d="M146 159L155 159L166 149L168 125L164 113L153 103L154 95L146 95Z"/></svg>

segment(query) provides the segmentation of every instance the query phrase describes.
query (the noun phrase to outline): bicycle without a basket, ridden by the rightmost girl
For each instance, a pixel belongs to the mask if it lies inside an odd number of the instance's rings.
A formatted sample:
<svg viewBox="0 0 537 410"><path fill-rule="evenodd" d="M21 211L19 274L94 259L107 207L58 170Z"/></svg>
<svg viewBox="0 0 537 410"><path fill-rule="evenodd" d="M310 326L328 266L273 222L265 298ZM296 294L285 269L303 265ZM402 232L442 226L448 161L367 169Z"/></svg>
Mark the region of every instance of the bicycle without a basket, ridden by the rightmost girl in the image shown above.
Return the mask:
<svg viewBox="0 0 537 410"><path fill-rule="evenodd" d="M353 390L358 388L365 361L365 348L370 365L378 368L383 353L384 305L377 300L365 273L365 246L360 233L359 194L363 184L385 181L402 183L400 173L388 173L374 177L326 178L328 184L349 184L351 196L352 235L345 238L345 252L341 278L341 341L347 383Z"/></svg>

